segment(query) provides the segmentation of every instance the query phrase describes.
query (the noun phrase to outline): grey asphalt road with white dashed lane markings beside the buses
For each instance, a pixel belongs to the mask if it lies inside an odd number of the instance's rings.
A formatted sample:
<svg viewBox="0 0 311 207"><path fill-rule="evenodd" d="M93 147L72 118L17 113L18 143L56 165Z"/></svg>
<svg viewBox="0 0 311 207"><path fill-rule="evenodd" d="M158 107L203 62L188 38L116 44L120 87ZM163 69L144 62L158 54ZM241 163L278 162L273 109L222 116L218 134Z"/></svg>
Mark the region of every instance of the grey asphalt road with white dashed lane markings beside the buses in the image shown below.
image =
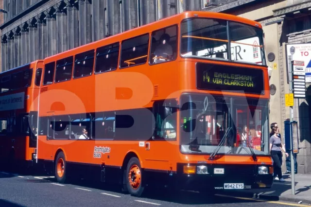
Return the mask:
<svg viewBox="0 0 311 207"><path fill-rule="evenodd" d="M241 195L240 195L241 197ZM115 186L77 180L59 184L53 176L0 172L0 207L310 207L290 202L239 198L227 194L148 191L142 197Z"/></svg>

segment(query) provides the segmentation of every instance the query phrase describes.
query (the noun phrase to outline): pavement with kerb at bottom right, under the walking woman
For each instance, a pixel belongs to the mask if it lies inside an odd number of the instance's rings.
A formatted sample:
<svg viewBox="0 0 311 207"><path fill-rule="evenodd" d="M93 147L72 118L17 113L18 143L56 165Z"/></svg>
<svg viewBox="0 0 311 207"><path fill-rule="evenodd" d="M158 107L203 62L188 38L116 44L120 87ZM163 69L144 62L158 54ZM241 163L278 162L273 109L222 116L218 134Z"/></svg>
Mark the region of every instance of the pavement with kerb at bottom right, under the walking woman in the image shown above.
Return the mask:
<svg viewBox="0 0 311 207"><path fill-rule="evenodd" d="M295 195L292 195L291 175L284 174L283 178L285 182L282 183L275 180L271 189L239 190L229 194L311 205L311 174L295 174Z"/></svg>

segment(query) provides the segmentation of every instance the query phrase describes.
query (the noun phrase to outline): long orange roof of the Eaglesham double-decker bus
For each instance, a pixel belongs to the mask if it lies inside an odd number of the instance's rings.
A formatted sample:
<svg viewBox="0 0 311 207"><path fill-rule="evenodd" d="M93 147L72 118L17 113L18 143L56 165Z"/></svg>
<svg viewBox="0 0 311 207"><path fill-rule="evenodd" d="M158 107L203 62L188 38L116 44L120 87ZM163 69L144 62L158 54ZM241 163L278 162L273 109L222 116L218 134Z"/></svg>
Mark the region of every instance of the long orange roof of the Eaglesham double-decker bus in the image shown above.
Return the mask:
<svg viewBox="0 0 311 207"><path fill-rule="evenodd" d="M149 24L139 26L137 28L121 32L103 39L100 39L98 41L88 43L86 45L77 47L77 48L72 48L70 50L55 54L53 56L47 57L44 59L45 63L50 63L58 59L66 58L69 56L72 56L74 54L86 52L95 48L99 48L105 45L113 44L116 42L120 42L125 39L130 39L135 36L139 36L142 34L146 34L149 32L153 32L155 30L158 30L160 28L168 27L173 24L180 23L183 19L190 18L190 17L204 17L204 18L218 18L218 19L225 19L225 20L231 20L235 22L240 22L244 24L248 24L254 27L258 27L262 29L262 26L259 22L246 19L240 16L234 16L234 15L228 15L228 14L223 14L223 13L217 13L217 12L204 12L204 11L189 11L189 12L183 12L180 14L176 14L173 16L169 16L163 19L160 19L155 22L151 22ZM77 52L78 51L78 52Z"/></svg>

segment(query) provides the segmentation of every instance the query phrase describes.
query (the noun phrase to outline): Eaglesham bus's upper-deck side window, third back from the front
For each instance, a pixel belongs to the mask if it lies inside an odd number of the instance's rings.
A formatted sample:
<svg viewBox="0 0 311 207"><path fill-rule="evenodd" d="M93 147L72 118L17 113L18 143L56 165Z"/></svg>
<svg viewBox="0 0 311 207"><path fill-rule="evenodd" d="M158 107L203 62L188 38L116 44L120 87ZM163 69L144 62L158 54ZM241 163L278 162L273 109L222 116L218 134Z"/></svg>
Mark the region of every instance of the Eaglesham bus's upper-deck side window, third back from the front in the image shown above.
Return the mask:
<svg viewBox="0 0 311 207"><path fill-rule="evenodd" d="M119 49L119 43L98 48L96 50L95 73L103 73L117 69Z"/></svg>

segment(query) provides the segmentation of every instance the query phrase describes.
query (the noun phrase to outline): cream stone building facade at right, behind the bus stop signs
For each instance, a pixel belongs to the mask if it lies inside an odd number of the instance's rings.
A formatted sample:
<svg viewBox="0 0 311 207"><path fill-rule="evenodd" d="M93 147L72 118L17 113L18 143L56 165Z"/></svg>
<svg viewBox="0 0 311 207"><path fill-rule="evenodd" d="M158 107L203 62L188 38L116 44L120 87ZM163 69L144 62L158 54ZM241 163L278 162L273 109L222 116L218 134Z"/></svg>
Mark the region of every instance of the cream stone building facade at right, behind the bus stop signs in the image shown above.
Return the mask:
<svg viewBox="0 0 311 207"><path fill-rule="evenodd" d="M263 26L270 77L270 123L282 126L290 117L285 106L289 92L285 44L311 43L311 0L228 0L221 5L209 5L205 11L221 12L256 20ZM272 85L274 87L272 87ZM307 96L294 100L294 120L298 122L298 173L311 173L311 86L306 83ZM286 170L285 155L283 171Z"/></svg>

